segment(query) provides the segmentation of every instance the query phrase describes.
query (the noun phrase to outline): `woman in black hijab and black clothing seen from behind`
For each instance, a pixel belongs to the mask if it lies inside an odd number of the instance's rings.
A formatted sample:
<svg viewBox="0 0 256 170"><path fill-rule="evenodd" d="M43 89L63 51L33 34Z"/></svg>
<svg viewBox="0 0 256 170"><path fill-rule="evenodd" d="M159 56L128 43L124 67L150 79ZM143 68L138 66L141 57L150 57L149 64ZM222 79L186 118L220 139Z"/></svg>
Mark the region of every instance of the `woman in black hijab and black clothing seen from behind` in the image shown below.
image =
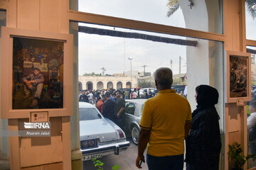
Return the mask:
<svg viewBox="0 0 256 170"><path fill-rule="evenodd" d="M186 169L217 170L220 160L220 117L215 109L218 91L208 85L196 87L196 110L186 138Z"/></svg>

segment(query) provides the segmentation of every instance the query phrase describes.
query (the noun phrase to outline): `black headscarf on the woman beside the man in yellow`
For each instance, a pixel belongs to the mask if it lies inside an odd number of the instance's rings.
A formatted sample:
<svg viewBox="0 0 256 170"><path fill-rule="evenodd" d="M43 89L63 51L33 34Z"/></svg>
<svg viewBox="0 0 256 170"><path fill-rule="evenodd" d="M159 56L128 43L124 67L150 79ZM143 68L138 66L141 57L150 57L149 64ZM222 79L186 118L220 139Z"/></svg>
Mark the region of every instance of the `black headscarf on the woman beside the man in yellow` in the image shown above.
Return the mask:
<svg viewBox="0 0 256 170"><path fill-rule="evenodd" d="M217 89L208 86L200 85L196 87L196 100L198 105L196 106L197 111L201 111L204 108L214 107L218 103L218 91Z"/></svg>

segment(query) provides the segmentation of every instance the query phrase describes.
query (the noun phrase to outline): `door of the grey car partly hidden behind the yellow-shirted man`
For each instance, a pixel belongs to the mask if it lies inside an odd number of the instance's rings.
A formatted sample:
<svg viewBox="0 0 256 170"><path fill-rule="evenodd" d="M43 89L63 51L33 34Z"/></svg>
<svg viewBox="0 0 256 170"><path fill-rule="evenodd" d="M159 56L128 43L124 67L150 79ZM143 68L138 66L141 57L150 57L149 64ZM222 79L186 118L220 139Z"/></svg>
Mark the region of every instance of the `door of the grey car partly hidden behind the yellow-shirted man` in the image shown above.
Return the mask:
<svg viewBox="0 0 256 170"><path fill-rule="evenodd" d="M134 111L135 111L136 104L132 102L127 102L127 105L124 108L125 112L125 128L127 130L130 130L130 125L133 120L135 120L136 116L134 116Z"/></svg>

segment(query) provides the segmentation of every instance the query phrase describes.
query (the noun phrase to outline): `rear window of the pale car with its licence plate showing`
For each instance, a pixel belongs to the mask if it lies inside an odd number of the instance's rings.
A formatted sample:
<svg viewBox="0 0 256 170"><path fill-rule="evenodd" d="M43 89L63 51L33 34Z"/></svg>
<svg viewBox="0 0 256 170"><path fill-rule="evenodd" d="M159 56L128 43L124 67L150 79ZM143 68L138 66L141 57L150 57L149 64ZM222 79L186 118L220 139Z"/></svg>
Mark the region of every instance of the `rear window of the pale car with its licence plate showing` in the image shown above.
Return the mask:
<svg viewBox="0 0 256 170"><path fill-rule="evenodd" d="M79 108L79 120L95 120L102 116L96 108Z"/></svg>

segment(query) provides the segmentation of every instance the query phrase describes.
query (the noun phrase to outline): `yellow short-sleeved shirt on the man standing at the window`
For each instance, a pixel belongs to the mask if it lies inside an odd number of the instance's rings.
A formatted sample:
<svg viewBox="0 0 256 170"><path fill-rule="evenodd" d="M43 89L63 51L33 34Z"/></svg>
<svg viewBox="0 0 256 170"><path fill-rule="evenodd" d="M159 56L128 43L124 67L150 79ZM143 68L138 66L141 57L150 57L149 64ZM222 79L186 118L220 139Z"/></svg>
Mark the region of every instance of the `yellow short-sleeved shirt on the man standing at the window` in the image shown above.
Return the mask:
<svg viewBox="0 0 256 170"><path fill-rule="evenodd" d="M191 106L173 89L159 91L144 103L140 127L151 130L147 153L155 157L184 153L185 123L192 121Z"/></svg>

